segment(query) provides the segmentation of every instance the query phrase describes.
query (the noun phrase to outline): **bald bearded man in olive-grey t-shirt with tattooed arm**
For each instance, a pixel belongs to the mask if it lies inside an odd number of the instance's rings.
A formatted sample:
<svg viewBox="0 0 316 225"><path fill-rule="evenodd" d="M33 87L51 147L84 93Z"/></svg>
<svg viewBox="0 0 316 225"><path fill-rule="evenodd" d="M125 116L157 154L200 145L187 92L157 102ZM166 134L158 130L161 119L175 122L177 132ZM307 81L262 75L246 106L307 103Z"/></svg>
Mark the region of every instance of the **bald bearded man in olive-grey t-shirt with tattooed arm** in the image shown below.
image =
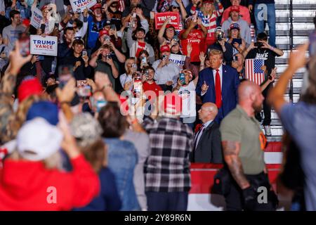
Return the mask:
<svg viewBox="0 0 316 225"><path fill-rule="evenodd" d="M263 158L266 139L254 116L262 109L261 87L244 81L238 96L237 107L220 124L225 166L231 176L230 190L225 194L226 209L276 210L277 196L270 191Z"/></svg>

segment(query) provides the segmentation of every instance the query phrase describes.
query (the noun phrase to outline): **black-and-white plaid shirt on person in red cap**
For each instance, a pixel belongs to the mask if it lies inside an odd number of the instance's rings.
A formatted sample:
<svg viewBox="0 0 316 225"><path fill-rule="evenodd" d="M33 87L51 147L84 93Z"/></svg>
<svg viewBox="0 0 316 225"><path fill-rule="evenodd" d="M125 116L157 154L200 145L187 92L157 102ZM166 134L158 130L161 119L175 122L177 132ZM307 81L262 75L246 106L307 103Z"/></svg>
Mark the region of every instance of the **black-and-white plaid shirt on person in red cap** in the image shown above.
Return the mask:
<svg viewBox="0 0 316 225"><path fill-rule="evenodd" d="M161 117L157 122L145 118L143 126L150 136L150 156L145 162L145 191L190 191L192 129L180 120L168 117Z"/></svg>

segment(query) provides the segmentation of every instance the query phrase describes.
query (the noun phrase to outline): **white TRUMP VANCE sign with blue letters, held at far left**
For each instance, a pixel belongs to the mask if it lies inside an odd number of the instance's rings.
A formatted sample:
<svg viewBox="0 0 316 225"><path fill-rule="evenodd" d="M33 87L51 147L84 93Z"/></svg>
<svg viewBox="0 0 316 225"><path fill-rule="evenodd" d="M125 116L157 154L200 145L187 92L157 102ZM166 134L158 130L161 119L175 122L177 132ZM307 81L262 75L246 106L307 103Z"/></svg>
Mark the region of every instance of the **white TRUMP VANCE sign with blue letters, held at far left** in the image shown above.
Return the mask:
<svg viewBox="0 0 316 225"><path fill-rule="evenodd" d="M31 35L32 55L57 56L57 46L57 37L41 37L41 35Z"/></svg>

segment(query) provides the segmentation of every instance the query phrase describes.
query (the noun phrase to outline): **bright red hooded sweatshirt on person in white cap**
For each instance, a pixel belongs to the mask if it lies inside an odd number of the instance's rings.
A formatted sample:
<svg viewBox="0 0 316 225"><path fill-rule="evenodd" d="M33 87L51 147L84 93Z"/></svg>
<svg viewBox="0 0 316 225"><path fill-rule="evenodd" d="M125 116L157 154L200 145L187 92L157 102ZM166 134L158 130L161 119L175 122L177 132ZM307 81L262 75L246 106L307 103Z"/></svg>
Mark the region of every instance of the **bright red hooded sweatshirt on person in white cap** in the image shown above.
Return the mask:
<svg viewBox="0 0 316 225"><path fill-rule="evenodd" d="M43 162L4 160L0 169L0 210L71 210L99 194L100 181L82 155L73 171L46 169Z"/></svg>

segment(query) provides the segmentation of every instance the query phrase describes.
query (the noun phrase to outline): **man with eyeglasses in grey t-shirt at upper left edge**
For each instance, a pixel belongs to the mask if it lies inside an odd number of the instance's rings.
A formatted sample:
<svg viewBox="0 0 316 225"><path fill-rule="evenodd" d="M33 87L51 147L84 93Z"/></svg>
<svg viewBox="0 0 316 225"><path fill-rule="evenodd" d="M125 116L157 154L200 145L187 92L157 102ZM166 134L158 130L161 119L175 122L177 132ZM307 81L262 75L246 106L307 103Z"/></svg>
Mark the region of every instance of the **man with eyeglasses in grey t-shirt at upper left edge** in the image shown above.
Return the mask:
<svg viewBox="0 0 316 225"><path fill-rule="evenodd" d="M25 32L25 27L21 24L21 15L19 11L11 11L10 18L12 23L11 25L4 27L2 37L4 37L4 44L8 46L9 51L12 51L15 40L18 39L20 33Z"/></svg>

